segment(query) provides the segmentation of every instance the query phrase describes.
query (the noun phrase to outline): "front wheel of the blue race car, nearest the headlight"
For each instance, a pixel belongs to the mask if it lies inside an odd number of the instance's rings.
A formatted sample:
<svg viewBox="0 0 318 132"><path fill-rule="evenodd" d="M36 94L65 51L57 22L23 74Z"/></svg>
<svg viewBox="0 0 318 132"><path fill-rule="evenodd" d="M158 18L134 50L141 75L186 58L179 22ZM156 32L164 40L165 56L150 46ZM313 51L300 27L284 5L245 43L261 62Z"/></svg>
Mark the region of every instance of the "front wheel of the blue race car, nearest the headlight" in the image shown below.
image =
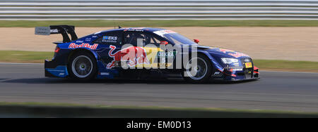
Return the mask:
<svg viewBox="0 0 318 132"><path fill-rule="evenodd" d="M190 65L190 62L192 62L192 60L197 60L197 65L194 66L193 72ZM211 60L206 58L205 55L198 54L196 58L192 58L191 60L189 60L189 62L187 63L187 68L186 70L184 70L183 74L186 81L194 84L200 84L206 83L209 79L211 79L212 72L213 65L211 64Z"/></svg>

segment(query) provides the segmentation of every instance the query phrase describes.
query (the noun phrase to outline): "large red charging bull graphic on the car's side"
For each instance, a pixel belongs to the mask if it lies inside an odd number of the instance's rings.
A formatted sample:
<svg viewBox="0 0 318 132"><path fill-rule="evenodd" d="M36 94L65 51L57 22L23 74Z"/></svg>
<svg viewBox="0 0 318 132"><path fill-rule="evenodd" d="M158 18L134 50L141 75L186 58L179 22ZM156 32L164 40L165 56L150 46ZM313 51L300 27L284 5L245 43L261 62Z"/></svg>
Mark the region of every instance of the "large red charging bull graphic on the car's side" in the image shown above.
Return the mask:
<svg viewBox="0 0 318 132"><path fill-rule="evenodd" d="M111 58L114 58L114 60L107 64L108 69L115 67L116 62L127 62L130 67L134 67L139 64L150 64L144 48L130 46L113 53L115 49L116 46L110 46L110 52L108 55Z"/></svg>

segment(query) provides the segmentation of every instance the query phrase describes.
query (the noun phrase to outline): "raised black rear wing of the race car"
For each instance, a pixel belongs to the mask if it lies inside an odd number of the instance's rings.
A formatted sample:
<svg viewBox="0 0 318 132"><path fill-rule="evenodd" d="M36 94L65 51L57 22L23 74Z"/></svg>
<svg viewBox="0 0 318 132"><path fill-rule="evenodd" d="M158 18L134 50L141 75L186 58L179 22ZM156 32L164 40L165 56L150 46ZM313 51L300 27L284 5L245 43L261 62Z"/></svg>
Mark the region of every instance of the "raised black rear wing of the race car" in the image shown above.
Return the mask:
<svg viewBox="0 0 318 132"><path fill-rule="evenodd" d="M37 35L50 35L61 34L63 37L63 43L77 40L78 37L75 33L75 27L69 25L52 25L49 27L35 27L35 34ZM69 38L71 35L71 39Z"/></svg>

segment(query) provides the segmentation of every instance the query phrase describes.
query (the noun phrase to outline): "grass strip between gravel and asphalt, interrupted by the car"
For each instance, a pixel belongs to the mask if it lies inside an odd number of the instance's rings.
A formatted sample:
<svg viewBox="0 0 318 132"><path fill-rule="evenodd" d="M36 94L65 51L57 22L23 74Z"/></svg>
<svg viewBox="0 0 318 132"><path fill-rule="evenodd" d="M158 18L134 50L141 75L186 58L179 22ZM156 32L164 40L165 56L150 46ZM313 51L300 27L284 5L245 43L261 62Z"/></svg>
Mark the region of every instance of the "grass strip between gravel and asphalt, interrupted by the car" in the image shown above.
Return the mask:
<svg viewBox="0 0 318 132"><path fill-rule="evenodd" d="M37 51L0 51L0 62L36 62L50 60L53 52ZM254 65L261 70L318 72L318 62L291 60L254 60Z"/></svg>

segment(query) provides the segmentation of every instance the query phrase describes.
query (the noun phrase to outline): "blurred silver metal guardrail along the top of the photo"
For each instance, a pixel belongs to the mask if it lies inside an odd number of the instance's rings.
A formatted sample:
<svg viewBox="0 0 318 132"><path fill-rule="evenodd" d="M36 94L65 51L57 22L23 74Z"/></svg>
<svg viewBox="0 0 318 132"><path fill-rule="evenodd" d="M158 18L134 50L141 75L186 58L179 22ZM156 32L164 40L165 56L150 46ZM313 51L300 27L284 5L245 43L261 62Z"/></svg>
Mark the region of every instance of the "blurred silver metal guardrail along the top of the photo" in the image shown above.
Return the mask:
<svg viewBox="0 0 318 132"><path fill-rule="evenodd" d="M318 20L318 0L0 0L0 20Z"/></svg>

